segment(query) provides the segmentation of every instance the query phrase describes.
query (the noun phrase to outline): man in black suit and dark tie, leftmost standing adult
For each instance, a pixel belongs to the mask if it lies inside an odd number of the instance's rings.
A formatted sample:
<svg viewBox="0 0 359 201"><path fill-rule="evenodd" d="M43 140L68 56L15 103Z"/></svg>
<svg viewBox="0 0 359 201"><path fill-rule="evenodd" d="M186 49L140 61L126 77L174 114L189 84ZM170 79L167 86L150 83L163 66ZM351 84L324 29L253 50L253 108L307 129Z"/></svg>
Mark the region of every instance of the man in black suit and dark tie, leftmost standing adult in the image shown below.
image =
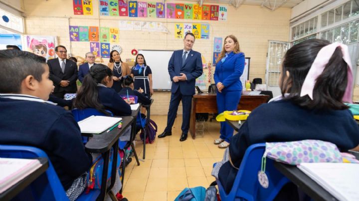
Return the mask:
<svg viewBox="0 0 359 201"><path fill-rule="evenodd" d="M48 60L47 65L50 69L50 80L55 86L53 95L63 99L65 94L74 94L77 91L77 65L66 59L67 50L64 46L56 46L55 52L58 58Z"/></svg>

